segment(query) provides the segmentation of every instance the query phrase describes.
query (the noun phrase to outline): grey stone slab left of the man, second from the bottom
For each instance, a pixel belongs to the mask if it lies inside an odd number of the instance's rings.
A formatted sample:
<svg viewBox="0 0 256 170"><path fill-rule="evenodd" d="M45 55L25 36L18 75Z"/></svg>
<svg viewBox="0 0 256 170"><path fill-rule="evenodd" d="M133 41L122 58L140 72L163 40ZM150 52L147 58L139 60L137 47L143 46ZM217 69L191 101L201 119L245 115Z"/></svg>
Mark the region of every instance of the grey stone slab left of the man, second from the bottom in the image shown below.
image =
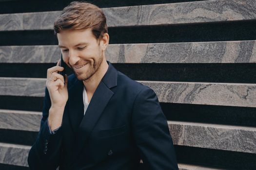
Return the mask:
<svg viewBox="0 0 256 170"><path fill-rule="evenodd" d="M0 129L39 131L41 112L0 110Z"/></svg>

